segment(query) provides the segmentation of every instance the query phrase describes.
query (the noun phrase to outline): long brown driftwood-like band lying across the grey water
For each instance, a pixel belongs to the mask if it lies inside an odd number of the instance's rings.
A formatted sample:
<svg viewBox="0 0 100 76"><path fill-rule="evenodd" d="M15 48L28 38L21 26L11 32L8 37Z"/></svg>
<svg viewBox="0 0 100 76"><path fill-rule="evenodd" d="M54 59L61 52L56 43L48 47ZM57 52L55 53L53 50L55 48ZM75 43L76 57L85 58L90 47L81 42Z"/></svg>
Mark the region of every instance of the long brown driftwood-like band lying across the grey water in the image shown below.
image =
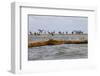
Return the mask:
<svg viewBox="0 0 100 76"><path fill-rule="evenodd" d="M86 44L87 40L53 40L50 39L48 41L39 41L39 42L30 42L28 43L28 47L39 47L46 45L60 45L60 44Z"/></svg>

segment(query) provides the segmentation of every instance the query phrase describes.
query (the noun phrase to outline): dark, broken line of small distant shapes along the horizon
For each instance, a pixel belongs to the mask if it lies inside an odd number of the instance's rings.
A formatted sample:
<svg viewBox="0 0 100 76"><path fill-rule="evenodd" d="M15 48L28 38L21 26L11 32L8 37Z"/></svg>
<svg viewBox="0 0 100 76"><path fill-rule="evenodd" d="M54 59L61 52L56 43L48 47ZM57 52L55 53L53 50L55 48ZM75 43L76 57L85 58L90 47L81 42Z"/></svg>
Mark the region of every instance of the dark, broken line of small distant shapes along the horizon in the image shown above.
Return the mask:
<svg viewBox="0 0 100 76"><path fill-rule="evenodd" d="M49 35L55 35L55 34L59 34L59 35L64 35L64 34L86 34L84 33L83 31L81 30L74 30L72 31L71 33L69 33L68 31L66 32L62 32L62 31L58 31L58 32L55 32L55 31L45 31L45 30L41 30L41 29L38 29L38 32L29 32L29 35L41 35L41 34L49 34Z"/></svg>

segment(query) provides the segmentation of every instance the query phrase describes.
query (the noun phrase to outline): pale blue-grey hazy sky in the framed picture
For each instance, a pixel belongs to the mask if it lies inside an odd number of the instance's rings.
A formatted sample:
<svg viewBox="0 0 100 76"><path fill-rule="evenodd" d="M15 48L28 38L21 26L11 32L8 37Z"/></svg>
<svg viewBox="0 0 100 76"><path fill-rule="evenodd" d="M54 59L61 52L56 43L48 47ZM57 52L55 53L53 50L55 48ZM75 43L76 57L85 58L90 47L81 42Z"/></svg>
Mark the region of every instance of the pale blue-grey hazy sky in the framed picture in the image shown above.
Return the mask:
<svg viewBox="0 0 100 76"><path fill-rule="evenodd" d="M82 30L88 32L87 17L71 17L71 16L36 16L29 15L29 31L37 32L38 29L46 31L62 31L69 33L73 30Z"/></svg>

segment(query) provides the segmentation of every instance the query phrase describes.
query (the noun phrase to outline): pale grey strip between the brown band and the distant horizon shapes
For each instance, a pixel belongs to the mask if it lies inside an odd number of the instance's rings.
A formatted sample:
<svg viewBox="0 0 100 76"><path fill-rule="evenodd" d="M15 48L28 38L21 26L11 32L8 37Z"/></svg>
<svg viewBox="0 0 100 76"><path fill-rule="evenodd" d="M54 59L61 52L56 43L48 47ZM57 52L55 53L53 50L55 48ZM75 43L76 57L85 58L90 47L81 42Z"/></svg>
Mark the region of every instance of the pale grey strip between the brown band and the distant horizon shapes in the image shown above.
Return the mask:
<svg viewBox="0 0 100 76"><path fill-rule="evenodd" d="M87 35L41 35L41 36L34 36L29 35L30 41L45 41L49 39L64 39L64 40L79 40L81 38L88 39Z"/></svg>

